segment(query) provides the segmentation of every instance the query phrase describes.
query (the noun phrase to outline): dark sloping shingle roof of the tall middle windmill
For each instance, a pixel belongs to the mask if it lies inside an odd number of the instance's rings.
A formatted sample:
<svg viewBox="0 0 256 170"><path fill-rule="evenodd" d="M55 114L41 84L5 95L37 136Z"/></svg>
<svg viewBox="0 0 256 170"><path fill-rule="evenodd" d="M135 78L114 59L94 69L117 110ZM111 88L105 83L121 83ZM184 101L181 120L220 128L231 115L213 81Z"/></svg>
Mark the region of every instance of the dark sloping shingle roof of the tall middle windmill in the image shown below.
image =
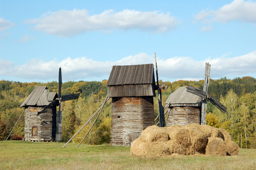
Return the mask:
<svg viewBox="0 0 256 170"><path fill-rule="evenodd" d="M154 84L153 64L113 66L107 85L124 84Z"/></svg>

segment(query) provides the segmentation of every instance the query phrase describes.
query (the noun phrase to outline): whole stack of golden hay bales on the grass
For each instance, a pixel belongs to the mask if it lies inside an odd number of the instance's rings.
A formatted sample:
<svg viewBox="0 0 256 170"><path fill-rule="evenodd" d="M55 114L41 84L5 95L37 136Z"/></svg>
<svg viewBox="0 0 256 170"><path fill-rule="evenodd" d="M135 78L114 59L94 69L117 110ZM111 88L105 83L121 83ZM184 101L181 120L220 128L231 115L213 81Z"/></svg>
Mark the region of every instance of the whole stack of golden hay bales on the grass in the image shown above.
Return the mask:
<svg viewBox="0 0 256 170"><path fill-rule="evenodd" d="M159 157L173 154L238 155L239 147L224 129L205 125L149 126L133 141L132 156Z"/></svg>

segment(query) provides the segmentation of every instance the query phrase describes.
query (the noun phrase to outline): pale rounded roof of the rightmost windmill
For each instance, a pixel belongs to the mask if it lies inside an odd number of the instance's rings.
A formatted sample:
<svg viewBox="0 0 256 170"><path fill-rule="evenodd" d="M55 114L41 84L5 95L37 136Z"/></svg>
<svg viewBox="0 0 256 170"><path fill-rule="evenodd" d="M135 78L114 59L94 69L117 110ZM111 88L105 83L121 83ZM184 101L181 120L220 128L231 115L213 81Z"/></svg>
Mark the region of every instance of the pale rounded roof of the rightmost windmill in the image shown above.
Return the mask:
<svg viewBox="0 0 256 170"><path fill-rule="evenodd" d="M202 105L202 98L187 92L187 87L179 87L166 100L166 105L170 107L175 106L191 106L200 107Z"/></svg>

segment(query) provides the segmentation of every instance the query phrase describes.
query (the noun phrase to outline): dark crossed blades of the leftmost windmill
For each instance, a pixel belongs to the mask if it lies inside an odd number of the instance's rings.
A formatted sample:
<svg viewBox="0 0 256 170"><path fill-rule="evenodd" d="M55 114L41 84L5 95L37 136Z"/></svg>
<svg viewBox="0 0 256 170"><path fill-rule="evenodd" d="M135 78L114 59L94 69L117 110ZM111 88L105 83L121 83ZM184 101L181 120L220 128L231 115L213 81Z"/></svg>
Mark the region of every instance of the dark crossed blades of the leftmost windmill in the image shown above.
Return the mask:
<svg viewBox="0 0 256 170"><path fill-rule="evenodd" d="M45 111L47 108L52 105L58 104L58 112L57 112L57 125L56 125L56 140L61 141L62 137L62 111L61 111L61 101L74 100L78 99L80 94L71 94L71 95L63 95L61 96L61 84L62 84L62 76L61 76L61 67L58 71L58 98L53 100L50 104L45 106L40 112Z"/></svg>

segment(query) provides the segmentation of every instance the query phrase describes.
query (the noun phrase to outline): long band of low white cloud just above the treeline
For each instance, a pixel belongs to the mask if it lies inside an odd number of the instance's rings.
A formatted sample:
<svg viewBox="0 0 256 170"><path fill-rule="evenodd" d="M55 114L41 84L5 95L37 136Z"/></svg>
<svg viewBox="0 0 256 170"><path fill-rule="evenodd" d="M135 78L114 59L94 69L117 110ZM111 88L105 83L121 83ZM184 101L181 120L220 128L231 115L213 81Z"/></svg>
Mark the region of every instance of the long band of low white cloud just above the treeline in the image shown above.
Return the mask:
<svg viewBox="0 0 256 170"><path fill-rule="evenodd" d="M230 54L230 53L229 53ZM199 80L204 79L205 62L211 64L211 78L219 79L224 76L227 78L236 78L244 75L256 75L256 51L238 57L228 57L224 54L216 59L203 59L195 61L191 57L173 57L162 59L157 58L158 74L163 80ZM7 61L5 61L7 62ZM1 62L2 63L2 62ZM58 68L62 68L65 77L68 80L103 80L108 79L112 66L114 65L137 65L145 63L154 63L154 56L146 53L136 54L119 59L118 61L96 61L87 57L65 58L58 62L43 61L31 59L25 65L19 65L9 69L5 73L2 69L2 75L23 78L25 80L39 79L40 81L57 80ZM9 67L12 62L9 62ZM6 66L3 64L2 66ZM2 67L1 67L2 68ZM0 70L1 71L1 70ZM1 72L0 72L1 73Z"/></svg>

